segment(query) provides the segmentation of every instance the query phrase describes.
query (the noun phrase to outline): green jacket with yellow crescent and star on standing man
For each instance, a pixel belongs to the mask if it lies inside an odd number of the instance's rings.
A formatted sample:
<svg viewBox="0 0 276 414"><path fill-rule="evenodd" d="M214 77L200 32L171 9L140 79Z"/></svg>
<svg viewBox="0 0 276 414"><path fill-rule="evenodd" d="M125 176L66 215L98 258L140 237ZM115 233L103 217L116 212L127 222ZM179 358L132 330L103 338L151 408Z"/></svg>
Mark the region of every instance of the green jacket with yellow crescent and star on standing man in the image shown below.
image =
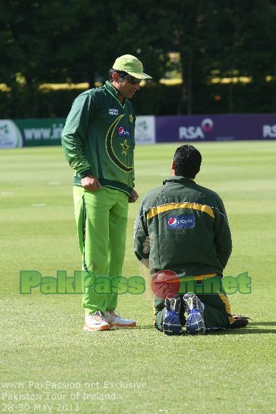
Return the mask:
<svg viewBox="0 0 276 414"><path fill-rule="evenodd" d="M86 90L72 104L61 143L74 184L97 177L102 186L117 188L131 196L135 148L135 112L128 99L117 99L117 90L106 81L101 88Z"/></svg>

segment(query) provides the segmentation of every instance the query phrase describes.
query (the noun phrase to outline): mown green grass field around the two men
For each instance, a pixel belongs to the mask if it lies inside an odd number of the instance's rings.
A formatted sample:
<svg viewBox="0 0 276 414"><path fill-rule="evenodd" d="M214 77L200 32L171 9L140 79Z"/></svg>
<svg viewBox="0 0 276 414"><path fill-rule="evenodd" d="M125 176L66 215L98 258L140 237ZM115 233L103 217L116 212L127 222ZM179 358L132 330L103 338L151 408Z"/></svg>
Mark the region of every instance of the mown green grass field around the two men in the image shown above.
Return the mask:
<svg viewBox="0 0 276 414"><path fill-rule="evenodd" d="M81 295L21 295L20 270L55 277L81 268L72 171L59 147L0 152L0 412L275 412L276 142L195 145L203 157L196 181L224 200L233 234L224 275L252 278L250 295L230 296L250 325L199 337L156 331L143 295L119 299L137 328L98 333L82 330ZM137 146L140 196L169 175L176 147ZM126 277L139 275L137 208L130 205Z"/></svg>

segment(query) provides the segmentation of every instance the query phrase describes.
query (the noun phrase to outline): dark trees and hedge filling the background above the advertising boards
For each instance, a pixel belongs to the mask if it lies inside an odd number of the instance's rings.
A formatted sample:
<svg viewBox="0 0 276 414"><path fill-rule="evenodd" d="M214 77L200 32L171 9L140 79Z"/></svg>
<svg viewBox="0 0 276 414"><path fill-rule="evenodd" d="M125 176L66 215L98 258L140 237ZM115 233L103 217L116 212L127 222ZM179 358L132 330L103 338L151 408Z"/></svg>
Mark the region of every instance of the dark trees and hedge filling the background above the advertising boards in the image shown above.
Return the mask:
<svg viewBox="0 0 276 414"><path fill-rule="evenodd" d="M276 112L275 40L275 0L0 0L0 119L66 117L82 91L39 85L93 88L126 53L154 78L137 115ZM179 72L180 85L159 83Z"/></svg>

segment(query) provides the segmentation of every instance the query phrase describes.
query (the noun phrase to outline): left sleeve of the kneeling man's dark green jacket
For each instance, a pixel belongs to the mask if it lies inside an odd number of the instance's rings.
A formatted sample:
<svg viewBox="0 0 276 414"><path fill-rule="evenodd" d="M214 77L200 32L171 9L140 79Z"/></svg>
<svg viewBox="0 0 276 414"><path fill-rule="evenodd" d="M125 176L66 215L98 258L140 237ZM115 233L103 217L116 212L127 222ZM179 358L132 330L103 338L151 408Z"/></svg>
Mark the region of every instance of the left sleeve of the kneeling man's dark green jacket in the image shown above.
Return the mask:
<svg viewBox="0 0 276 414"><path fill-rule="evenodd" d="M144 217L143 212L143 201L137 213L134 226L134 251L137 259L140 261L143 259L148 259L150 248L149 243L147 245L148 237L148 228L146 226L146 218Z"/></svg>

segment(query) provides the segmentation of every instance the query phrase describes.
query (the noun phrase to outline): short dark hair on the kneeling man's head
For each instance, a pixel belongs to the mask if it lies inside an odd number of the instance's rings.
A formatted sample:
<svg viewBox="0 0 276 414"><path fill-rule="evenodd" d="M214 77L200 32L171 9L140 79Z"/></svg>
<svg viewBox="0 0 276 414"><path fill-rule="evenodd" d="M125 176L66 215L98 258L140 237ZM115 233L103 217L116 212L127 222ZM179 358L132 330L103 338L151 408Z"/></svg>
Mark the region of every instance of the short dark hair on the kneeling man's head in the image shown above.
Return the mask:
<svg viewBox="0 0 276 414"><path fill-rule="evenodd" d="M201 165L201 154L193 145L182 145L175 151L175 175L195 178Z"/></svg>

